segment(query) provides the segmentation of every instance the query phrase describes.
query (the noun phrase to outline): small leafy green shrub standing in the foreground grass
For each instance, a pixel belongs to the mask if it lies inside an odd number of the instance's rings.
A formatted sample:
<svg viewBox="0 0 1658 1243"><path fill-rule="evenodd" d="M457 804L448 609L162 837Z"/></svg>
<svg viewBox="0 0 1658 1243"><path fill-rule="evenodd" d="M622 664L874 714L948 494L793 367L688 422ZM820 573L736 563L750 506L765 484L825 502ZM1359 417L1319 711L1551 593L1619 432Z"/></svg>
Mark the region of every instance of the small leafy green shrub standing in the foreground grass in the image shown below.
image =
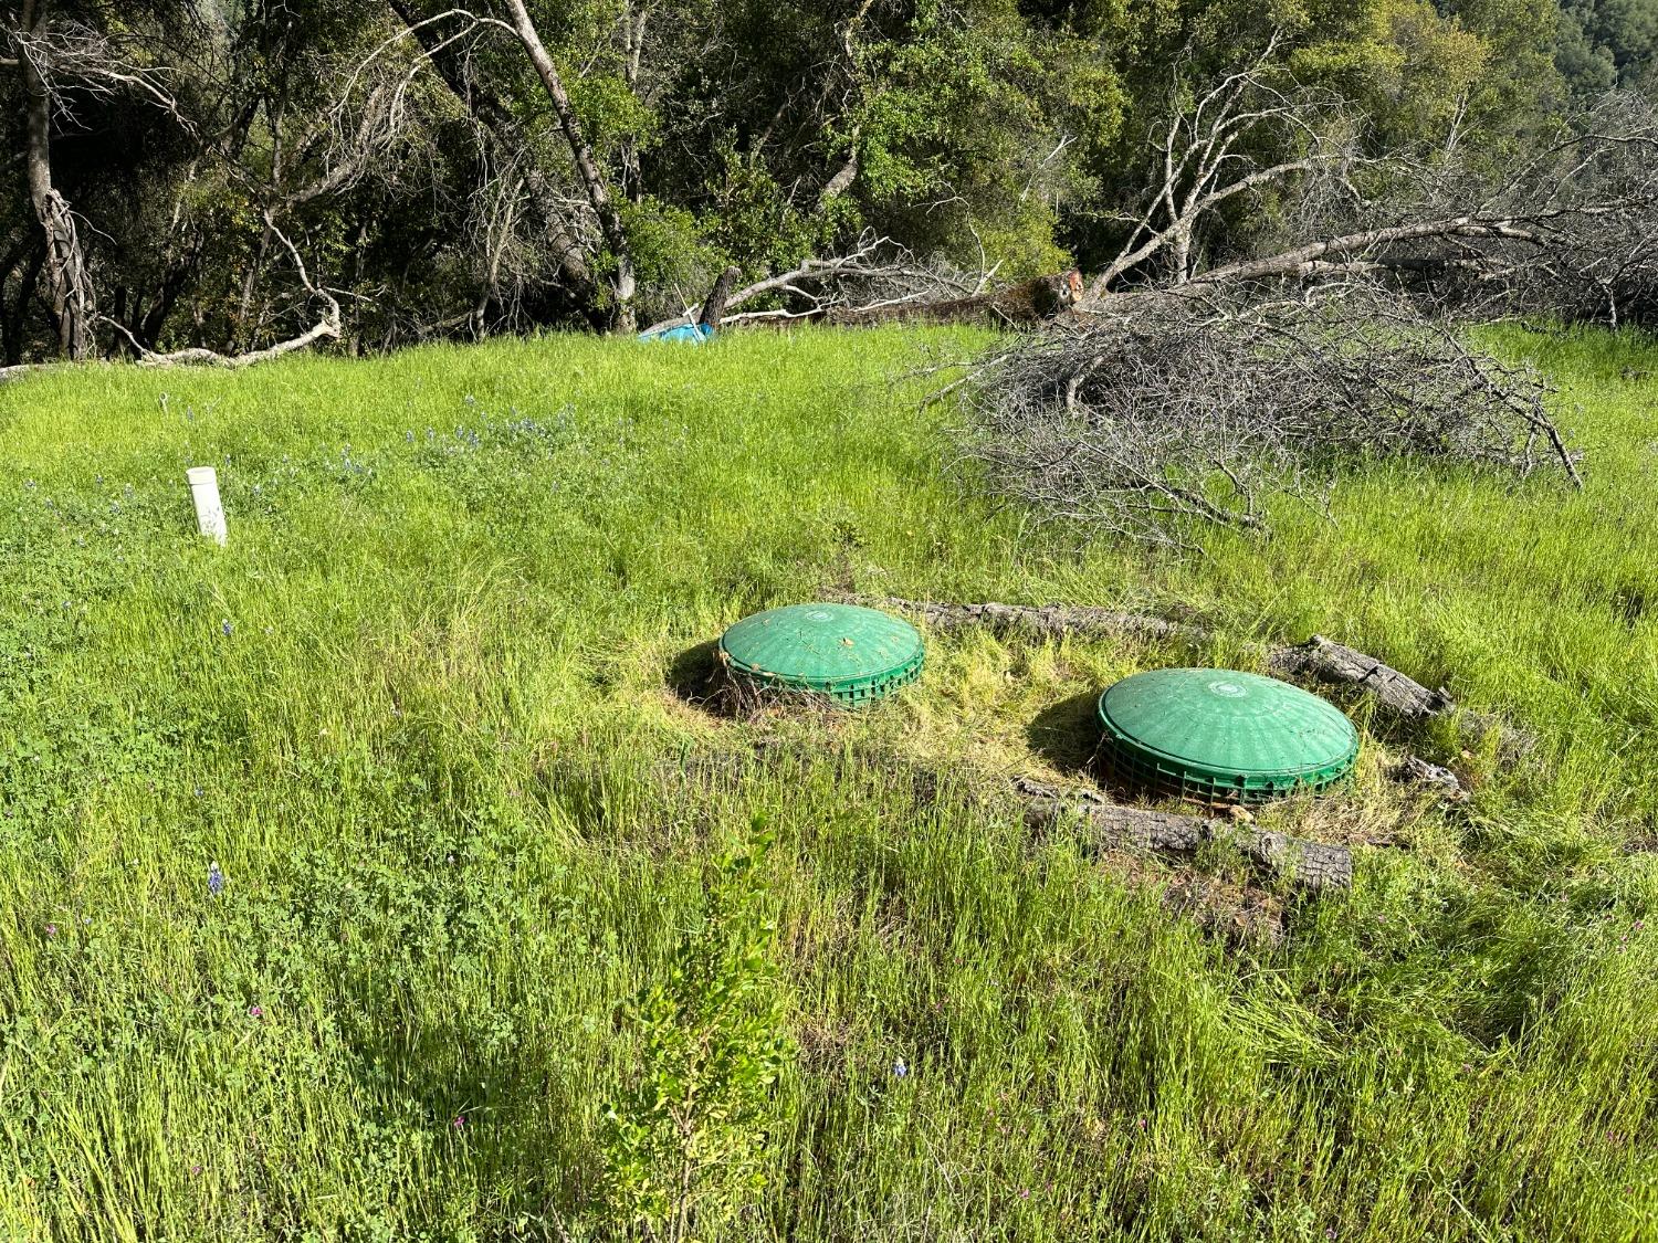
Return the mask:
<svg viewBox="0 0 1658 1243"><path fill-rule="evenodd" d="M623 1009L637 1082L604 1114L604 1212L622 1230L721 1238L766 1185L776 1082L791 1061L759 872L769 847L756 822L713 863L701 925Z"/></svg>

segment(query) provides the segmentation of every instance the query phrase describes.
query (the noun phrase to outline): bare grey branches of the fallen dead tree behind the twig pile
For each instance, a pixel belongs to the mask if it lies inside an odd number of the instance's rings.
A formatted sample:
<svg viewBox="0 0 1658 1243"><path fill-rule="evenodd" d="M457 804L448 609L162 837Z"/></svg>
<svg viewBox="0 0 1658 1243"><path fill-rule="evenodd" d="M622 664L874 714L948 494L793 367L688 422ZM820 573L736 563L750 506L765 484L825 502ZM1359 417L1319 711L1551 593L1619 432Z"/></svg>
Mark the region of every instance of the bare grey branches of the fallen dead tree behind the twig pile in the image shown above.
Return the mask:
<svg viewBox="0 0 1658 1243"><path fill-rule="evenodd" d="M1434 302L1602 318L1658 317L1658 104L1613 93L1500 181L1454 139L1360 156L1360 118L1287 80L1272 46L1207 89L1177 66L1147 136L1146 189L1117 255L1091 280L1132 288L1386 277ZM1200 255L1239 196L1283 206L1278 249ZM1234 237L1234 242L1237 239ZM1124 292L1127 290L1127 292Z"/></svg>

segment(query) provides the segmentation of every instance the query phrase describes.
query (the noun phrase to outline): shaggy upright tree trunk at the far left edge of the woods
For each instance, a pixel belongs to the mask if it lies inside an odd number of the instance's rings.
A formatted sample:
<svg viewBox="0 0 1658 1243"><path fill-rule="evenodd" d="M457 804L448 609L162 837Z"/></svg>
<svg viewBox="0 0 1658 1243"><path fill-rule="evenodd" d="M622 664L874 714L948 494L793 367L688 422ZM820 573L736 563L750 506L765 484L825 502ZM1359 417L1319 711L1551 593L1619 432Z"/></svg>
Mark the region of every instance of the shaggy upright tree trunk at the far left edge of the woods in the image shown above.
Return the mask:
<svg viewBox="0 0 1658 1243"><path fill-rule="evenodd" d="M23 28L35 38L45 35L45 0L25 0ZM27 55L18 56L18 70L23 75L25 101L23 169L30 206L46 235L46 287L58 325L58 353L80 360L93 350L95 310L75 215L51 184L51 91Z"/></svg>

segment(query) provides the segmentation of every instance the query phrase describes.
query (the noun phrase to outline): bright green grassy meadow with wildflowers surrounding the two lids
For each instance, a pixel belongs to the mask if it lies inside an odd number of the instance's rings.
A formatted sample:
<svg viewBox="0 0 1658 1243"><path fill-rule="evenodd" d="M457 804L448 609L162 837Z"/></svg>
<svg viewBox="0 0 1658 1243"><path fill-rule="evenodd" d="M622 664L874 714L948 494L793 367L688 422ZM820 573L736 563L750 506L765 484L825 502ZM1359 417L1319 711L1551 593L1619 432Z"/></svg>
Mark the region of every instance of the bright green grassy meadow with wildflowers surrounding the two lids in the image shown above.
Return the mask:
<svg viewBox="0 0 1658 1243"><path fill-rule="evenodd" d="M1489 331L1582 492L1376 466L1180 560L943 469L973 343L0 386L0 1238L1658 1238L1658 343ZM1220 638L696 701L849 590ZM1313 631L1542 744L1341 699L1356 782L1263 817L1355 845L1320 900L1025 829L1106 683Z"/></svg>

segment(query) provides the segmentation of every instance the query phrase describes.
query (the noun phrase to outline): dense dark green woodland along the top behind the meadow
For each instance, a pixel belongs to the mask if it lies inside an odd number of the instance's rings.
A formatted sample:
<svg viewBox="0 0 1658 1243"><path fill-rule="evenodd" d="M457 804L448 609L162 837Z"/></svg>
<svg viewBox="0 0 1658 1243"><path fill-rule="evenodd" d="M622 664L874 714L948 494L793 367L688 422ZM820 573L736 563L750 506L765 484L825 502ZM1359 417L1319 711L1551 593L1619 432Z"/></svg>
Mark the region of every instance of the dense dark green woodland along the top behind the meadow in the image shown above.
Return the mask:
<svg viewBox="0 0 1658 1243"><path fill-rule="evenodd" d="M1658 0L5 0L0 360L625 328L872 235L1091 272L1263 50L1353 151L1502 169L1658 85Z"/></svg>

